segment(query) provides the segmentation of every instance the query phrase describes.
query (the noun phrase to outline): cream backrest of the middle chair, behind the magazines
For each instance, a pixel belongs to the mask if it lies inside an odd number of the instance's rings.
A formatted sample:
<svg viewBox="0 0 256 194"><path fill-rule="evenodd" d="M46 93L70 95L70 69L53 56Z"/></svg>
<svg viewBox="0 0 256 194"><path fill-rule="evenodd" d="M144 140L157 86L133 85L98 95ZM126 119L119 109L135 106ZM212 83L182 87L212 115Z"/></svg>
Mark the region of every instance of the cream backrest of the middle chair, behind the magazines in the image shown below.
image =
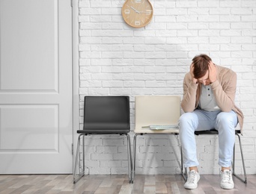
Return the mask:
<svg viewBox="0 0 256 194"><path fill-rule="evenodd" d="M135 96L135 130L147 125L177 125L180 96Z"/></svg>

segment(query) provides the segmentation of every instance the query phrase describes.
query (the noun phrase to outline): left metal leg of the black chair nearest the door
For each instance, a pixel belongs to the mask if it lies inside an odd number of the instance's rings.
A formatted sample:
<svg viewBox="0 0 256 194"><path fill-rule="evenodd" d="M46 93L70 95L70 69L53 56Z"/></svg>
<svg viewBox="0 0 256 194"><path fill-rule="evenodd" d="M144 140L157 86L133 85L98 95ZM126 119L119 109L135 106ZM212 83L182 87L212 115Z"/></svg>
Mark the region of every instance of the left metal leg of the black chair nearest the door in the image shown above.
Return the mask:
<svg viewBox="0 0 256 194"><path fill-rule="evenodd" d="M80 141L82 137L82 172L80 170ZM79 164L79 174L76 174L76 167ZM80 134L78 141L77 141L77 148L76 148L76 162L75 162L75 168L73 172L73 184L76 184L77 181L79 181L80 178L82 178L85 175L85 134Z"/></svg>

